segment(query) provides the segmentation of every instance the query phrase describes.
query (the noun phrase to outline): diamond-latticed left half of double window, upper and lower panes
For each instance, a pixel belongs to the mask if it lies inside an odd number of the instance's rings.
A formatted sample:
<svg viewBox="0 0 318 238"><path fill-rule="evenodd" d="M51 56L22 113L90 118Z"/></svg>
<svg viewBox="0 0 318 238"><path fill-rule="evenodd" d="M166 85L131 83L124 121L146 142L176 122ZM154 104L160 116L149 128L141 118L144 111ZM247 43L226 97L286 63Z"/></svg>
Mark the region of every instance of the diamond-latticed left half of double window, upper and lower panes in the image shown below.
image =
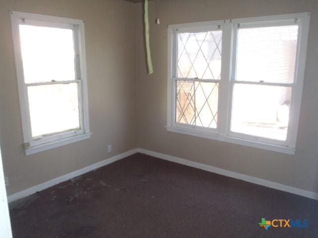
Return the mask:
<svg viewBox="0 0 318 238"><path fill-rule="evenodd" d="M175 121L217 128L222 30L177 33Z"/></svg>

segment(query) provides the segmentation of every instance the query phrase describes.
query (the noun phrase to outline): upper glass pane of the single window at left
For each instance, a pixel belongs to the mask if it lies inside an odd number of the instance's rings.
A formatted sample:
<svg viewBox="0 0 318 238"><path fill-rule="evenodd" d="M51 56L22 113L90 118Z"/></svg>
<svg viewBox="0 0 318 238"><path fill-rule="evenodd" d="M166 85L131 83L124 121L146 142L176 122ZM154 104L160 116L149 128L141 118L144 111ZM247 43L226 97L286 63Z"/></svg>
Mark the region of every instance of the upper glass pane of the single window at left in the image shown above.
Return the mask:
<svg viewBox="0 0 318 238"><path fill-rule="evenodd" d="M19 25L25 83L75 80L73 30Z"/></svg>

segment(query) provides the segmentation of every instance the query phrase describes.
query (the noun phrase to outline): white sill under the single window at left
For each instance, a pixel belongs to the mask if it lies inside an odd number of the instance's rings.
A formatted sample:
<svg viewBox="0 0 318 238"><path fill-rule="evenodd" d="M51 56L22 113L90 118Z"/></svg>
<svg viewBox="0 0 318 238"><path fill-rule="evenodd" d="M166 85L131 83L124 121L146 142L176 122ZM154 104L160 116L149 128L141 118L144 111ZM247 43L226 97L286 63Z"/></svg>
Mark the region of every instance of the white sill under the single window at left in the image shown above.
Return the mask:
<svg viewBox="0 0 318 238"><path fill-rule="evenodd" d="M49 149L53 149L59 146L63 146L63 145L67 145L67 144L71 144L73 142L77 142L80 140L85 140L90 138L90 135L92 133L84 133L84 134L80 134L80 135L76 135L76 136L72 136L72 137L68 137L68 138L64 138L61 140L56 140L56 141L52 141L49 143L45 143L45 144L41 144L41 145L36 145L36 146L32 146L29 149L25 150L25 155L32 155L41 151L45 151L45 150L49 150Z"/></svg>

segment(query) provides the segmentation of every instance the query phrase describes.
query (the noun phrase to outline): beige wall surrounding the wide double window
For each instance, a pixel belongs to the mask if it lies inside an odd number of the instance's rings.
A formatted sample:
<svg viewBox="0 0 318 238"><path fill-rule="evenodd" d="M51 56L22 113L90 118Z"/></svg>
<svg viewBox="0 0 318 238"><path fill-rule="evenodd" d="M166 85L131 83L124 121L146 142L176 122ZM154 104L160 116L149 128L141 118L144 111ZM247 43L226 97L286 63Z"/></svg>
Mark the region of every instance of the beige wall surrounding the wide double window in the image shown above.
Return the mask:
<svg viewBox="0 0 318 238"><path fill-rule="evenodd" d="M155 25L155 4L151 2L151 48L155 73L147 75L142 35L142 5L137 4L138 145L145 149L318 192L317 8L317 0L160 0L160 25ZM312 12L312 15L295 156L166 131L168 24L307 11Z"/></svg>

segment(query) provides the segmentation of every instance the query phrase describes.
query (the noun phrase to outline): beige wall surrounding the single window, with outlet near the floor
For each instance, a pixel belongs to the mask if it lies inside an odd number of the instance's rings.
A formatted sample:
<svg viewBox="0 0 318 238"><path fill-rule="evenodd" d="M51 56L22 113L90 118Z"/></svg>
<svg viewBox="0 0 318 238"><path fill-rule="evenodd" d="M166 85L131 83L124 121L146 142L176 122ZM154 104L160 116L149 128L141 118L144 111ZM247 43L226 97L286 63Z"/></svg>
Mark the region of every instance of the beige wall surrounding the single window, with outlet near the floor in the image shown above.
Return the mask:
<svg viewBox="0 0 318 238"><path fill-rule="evenodd" d="M90 139L25 156L11 10L85 23ZM135 6L121 0L0 0L0 142L8 194L136 147ZM107 145L112 152L107 153Z"/></svg>

